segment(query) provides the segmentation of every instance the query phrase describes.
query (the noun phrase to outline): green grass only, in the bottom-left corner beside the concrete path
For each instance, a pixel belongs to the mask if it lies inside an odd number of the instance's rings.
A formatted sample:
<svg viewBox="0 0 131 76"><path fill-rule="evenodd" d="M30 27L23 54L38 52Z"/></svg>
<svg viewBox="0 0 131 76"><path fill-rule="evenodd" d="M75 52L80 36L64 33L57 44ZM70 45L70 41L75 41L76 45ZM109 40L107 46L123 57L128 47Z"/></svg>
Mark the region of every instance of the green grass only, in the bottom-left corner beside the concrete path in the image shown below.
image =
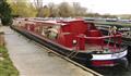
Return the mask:
<svg viewBox="0 0 131 76"><path fill-rule="evenodd" d="M19 76L19 71L13 65L4 47L0 47L0 76Z"/></svg>

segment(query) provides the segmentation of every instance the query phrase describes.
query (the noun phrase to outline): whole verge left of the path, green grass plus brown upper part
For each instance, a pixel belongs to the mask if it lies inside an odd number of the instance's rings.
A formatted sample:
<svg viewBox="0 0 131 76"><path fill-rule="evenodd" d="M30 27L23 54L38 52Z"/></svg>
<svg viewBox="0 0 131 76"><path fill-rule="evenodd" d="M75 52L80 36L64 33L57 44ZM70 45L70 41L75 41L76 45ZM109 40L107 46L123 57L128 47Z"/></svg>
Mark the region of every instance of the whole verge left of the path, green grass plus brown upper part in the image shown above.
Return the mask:
<svg viewBox="0 0 131 76"><path fill-rule="evenodd" d="M19 76L19 71L9 58L3 31L0 31L0 76Z"/></svg>

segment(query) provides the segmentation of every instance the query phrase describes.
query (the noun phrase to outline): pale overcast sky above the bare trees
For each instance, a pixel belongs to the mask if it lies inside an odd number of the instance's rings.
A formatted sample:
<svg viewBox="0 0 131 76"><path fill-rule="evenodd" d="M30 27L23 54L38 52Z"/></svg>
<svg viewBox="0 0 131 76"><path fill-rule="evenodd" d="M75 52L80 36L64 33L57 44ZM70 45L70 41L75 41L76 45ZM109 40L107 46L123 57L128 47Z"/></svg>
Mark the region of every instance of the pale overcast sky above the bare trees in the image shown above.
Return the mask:
<svg viewBox="0 0 131 76"><path fill-rule="evenodd" d="M80 2L90 12L100 14L131 14L131 0L44 0L43 3L47 4L53 2Z"/></svg>

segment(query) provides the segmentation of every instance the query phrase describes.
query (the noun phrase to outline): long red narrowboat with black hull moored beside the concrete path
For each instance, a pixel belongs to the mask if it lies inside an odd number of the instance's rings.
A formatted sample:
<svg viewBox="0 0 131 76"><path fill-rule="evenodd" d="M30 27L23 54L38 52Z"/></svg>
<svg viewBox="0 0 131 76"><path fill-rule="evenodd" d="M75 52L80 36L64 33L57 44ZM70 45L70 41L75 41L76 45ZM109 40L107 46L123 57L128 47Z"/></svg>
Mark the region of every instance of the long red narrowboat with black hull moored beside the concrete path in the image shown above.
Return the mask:
<svg viewBox="0 0 131 76"><path fill-rule="evenodd" d="M115 27L105 36L94 23L83 20L15 18L11 28L85 65L115 66L128 54L121 45L122 35Z"/></svg>

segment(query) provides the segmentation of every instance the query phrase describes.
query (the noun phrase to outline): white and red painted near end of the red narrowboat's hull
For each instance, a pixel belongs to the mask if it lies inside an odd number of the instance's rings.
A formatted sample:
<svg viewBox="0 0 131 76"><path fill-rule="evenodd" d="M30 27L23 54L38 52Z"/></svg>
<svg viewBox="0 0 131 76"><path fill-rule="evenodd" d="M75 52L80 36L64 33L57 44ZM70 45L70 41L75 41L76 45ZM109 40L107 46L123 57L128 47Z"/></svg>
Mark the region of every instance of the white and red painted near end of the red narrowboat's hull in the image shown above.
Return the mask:
<svg viewBox="0 0 131 76"><path fill-rule="evenodd" d="M119 51L115 53L102 53L93 54L92 65L93 66L115 66L121 62L126 62L128 50Z"/></svg>

